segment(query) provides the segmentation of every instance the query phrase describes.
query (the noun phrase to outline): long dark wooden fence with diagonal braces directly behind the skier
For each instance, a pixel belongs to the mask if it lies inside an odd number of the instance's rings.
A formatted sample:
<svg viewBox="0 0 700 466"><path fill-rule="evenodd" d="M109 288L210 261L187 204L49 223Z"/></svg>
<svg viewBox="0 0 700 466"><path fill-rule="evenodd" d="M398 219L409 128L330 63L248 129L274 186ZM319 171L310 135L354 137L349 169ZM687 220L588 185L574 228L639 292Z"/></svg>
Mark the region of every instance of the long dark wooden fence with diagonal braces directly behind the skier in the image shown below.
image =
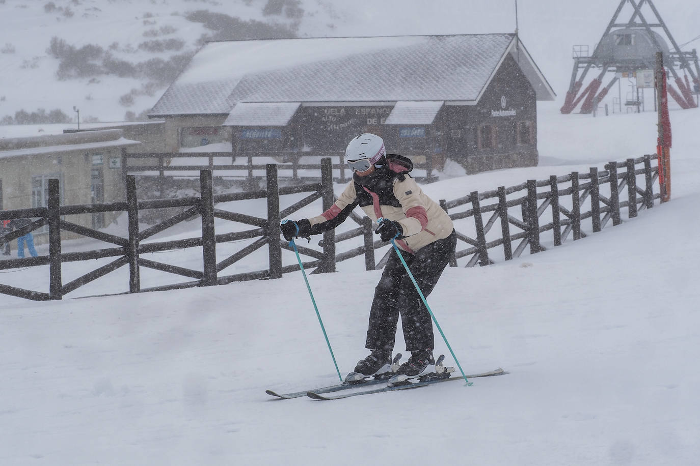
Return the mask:
<svg viewBox="0 0 700 466"><path fill-rule="evenodd" d="M91 205L59 205L59 181L50 180L48 207L0 211L0 220L38 217L31 224L18 228L4 237L0 236L0 242L19 238L30 231L48 225L48 256L3 260L0 261L0 270L48 265L49 292L42 293L0 284L0 293L31 300L61 299L71 291L75 291L94 279L125 265L128 265L130 271L129 293L211 286L251 279L280 278L283 273L300 268L297 263L283 266L282 249L290 251L292 249L285 241L281 240L279 223L281 219L318 199L321 199L323 210L330 208L335 201L333 168L330 159L323 159L321 162L321 182L295 187L279 187L278 167L274 163L268 163L265 166L267 189L218 195L213 194L211 170L201 170L200 197L155 201L138 201L136 178L133 175L128 175L126 178L126 202ZM641 182L638 182L638 179ZM622 223L622 209L626 208L627 217L633 218L636 217L639 210L653 207L654 199L660 198L660 194L653 192L654 182L657 182L657 179L658 168L652 167L651 156L647 155L638 159L627 159L624 162L610 162L602 171L594 167L585 174L573 172L559 177L552 175L548 180L528 180L512 187L498 187L493 191L482 193L473 191L467 196L452 201L441 200L440 205L453 219L457 237L460 240L450 265L457 266L458 259L464 257L468 257L466 267L472 267L477 263L488 265L496 259L507 261L519 257L528 246L531 254L541 252L549 247L549 241L542 237L542 233L547 231L552 231L551 244L554 247L561 245L569 236L573 240L584 238L586 233L582 228L582 221L587 219L591 219L591 231L593 232L601 231L610 219L612 219L612 225L618 225ZM621 194L625 188L627 195L621 200ZM289 207L281 209L280 196L289 194L296 196L304 194L305 196ZM266 217L255 217L215 207L221 203L251 199L266 200ZM184 210L160 224L139 231L140 211L172 207ZM120 211L127 213L127 238L62 219L62 217L71 214ZM200 236L171 241L146 242L153 235L197 216L201 217L202 220ZM354 212L350 214L349 218L356 222L358 227L342 233L335 233L335 231L324 233L323 240L318 242L320 250L297 245L300 254L314 259L304 263L304 268L316 268L314 273L334 272L337 262L362 255L365 256L367 270L384 266L391 249L387 250L378 264L375 262L375 249L386 246L386 243L374 240L372 221L367 217L360 217ZM253 228L217 234L214 228L214 219L232 221ZM493 228L496 222L500 224L500 229ZM512 228L516 231L511 231ZM62 252L60 237L62 230L108 242L116 247L87 252ZM362 245L351 246L351 249L344 252L336 252L337 245L343 242L355 245L360 237ZM234 254L218 261L217 245L239 240L253 241ZM466 245L465 249L461 249L463 243ZM515 247L513 248L514 243ZM235 275L222 275L221 272L230 265L265 246L267 246L267 268ZM193 247L202 248L202 270L152 261L141 256L147 253ZM109 257L116 257L116 259L73 279L71 282L63 283L62 263ZM142 288L141 268L169 272L193 280Z"/></svg>

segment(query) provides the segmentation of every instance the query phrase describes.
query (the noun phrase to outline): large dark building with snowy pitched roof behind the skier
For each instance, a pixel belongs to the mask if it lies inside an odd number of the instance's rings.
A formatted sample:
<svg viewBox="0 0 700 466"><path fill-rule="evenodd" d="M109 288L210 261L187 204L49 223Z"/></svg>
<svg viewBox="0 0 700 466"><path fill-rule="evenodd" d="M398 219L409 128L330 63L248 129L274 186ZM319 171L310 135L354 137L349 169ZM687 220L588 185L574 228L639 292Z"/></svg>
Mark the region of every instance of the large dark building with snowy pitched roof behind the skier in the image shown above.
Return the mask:
<svg viewBox="0 0 700 466"><path fill-rule="evenodd" d="M331 156L370 132L389 152L476 173L538 162L536 101L554 91L515 34L204 45L149 113L167 150Z"/></svg>

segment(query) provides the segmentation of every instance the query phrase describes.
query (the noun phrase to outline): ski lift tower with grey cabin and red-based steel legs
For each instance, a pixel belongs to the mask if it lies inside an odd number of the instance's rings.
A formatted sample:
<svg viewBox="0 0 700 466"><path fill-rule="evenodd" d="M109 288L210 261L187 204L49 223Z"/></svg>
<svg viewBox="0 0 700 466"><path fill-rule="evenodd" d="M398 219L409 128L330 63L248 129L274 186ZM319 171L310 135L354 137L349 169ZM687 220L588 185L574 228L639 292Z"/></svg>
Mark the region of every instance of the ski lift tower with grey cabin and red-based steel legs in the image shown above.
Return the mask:
<svg viewBox="0 0 700 466"><path fill-rule="evenodd" d="M619 22L622 10L629 10L624 8L627 3L632 8L631 17L627 22ZM645 6L648 8L644 8ZM646 10L646 14L643 10ZM647 18L650 21L647 21ZM671 43L671 48L666 41ZM678 87L676 90L668 83L668 94L671 94L681 108L696 107L693 94L700 92L700 66L696 50L680 50L652 0L621 0L593 54L589 54L587 45L574 45L573 73L561 112L572 112L581 101L581 113L593 112L598 102L623 75L636 76L638 89L645 87L640 78L651 73L652 83L649 87L653 87L656 52L664 54L664 66L668 68L670 75L675 79L675 86ZM593 68L596 68L598 75L579 94L586 75ZM601 89L607 73L614 73L614 77ZM628 99L627 103L639 105L640 102L638 99Z"/></svg>

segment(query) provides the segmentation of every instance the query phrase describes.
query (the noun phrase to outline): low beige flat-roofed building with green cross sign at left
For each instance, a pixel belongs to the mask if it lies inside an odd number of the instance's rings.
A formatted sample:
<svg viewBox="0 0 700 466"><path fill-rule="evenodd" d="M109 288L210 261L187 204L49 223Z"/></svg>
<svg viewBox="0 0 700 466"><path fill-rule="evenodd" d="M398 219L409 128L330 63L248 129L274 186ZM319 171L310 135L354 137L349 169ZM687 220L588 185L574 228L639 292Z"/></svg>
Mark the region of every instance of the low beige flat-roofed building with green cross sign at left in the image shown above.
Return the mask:
<svg viewBox="0 0 700 466"><path fill-rule="evenodd" d="M59 180L62 205L124 201L121 161L127 148L140 144L124 138L120 129L0 138L0 208L46 207L51 179ZM102 228L114 215L71 215L69 221ZM46 233L44 227L34 236L41 243Z"/></svg>

